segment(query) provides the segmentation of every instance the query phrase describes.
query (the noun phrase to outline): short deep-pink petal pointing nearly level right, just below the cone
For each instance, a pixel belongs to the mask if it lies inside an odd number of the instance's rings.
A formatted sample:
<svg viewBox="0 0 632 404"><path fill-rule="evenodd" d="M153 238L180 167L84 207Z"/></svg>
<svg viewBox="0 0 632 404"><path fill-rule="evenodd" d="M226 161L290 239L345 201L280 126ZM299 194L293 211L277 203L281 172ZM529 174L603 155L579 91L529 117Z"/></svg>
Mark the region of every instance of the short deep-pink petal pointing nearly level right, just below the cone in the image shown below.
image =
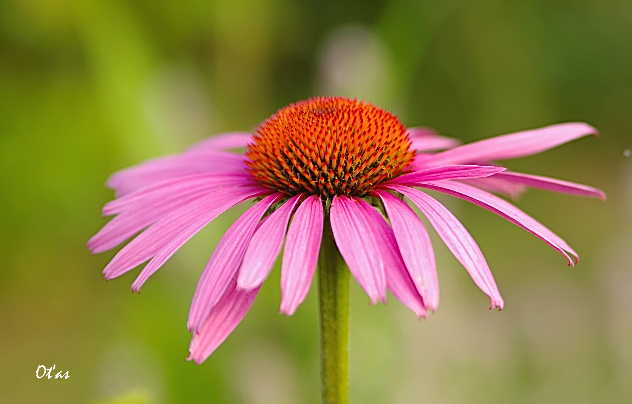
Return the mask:
<svg viewBox="0 0 632 404"><path fill-rule="evenodd" d="M435 168L422 169L404 174L384 182L388 184L407 185L416 187L425 181L434 180L460 180L461 178L487 177L505 171L504 167L496 166L441 166Z"/></svg>

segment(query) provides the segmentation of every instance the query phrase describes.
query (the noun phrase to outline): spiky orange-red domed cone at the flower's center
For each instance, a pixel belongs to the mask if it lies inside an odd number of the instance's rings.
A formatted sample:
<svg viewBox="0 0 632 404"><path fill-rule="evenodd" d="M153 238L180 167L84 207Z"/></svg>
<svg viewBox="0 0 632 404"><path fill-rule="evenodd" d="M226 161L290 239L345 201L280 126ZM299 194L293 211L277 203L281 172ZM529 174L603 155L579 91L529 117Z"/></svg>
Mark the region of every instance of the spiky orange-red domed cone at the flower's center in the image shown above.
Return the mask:
<svg viewBox="0 0 632 404"><path fill-rule="evenodd" d="M408 171L415 151L406 127L367 102L315 97L279 109L257 128L250 173L288 195L362 197Z"/></svg>

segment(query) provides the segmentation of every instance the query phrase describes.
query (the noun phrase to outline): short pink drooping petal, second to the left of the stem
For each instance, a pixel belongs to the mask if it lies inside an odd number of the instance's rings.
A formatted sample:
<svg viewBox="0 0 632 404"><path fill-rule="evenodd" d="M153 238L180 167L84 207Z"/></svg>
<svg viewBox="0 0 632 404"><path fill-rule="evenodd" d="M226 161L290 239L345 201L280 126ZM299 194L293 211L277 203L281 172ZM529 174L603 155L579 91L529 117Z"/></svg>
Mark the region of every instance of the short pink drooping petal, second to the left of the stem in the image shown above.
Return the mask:
<svg viewBox="0 0 632 404"><path fill-rule="evenodd" d="M252 290L267 278L283 246L289 218L301 197L302 193L291 197L288 202L272 212L255 231L241 262L237 278L238 288Z"/></svg>

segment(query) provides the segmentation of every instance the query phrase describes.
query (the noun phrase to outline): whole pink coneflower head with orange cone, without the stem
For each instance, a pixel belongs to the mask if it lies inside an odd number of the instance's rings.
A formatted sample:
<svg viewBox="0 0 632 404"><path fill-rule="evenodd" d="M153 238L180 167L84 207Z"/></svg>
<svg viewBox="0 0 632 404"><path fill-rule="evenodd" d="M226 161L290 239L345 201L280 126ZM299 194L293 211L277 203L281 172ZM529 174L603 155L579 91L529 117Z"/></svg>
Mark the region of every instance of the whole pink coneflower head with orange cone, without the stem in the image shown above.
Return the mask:
<svg viewBox="0 0 632 404"><path fill-rule="evenodd" d="M568 123L459 146L425 128L406 130L390 113L342 97L317 97L277 111L250 133L225 133L182 154L123 169L107 181L116 215L88 241L103 252L137 234L109 262L106 279L143 262L145 281L191 236L231 207L255 199L226 231L198 281L188 318L190 360L203 362L243 319L281 252L281 308L294 314L312 282L329 219L349 271L371 303L391 291L418 317L437 309L430 238L403 196L419 207L471 278L502 308L477 244L446 207L416 188L454 195L518 224L564 255L559 236L485 190L517 195L525 186L604 197L595 188L509 173L492 160L528 156L596 133ZM246 147L246 154L225 150ZM451 149L449 149L451 148ZM415 154L415 150L421 154ZM434 150L449 149L432 153ZM375 207L383 209L389 221ZM390 223L389 223L390 222Z"/></svg>

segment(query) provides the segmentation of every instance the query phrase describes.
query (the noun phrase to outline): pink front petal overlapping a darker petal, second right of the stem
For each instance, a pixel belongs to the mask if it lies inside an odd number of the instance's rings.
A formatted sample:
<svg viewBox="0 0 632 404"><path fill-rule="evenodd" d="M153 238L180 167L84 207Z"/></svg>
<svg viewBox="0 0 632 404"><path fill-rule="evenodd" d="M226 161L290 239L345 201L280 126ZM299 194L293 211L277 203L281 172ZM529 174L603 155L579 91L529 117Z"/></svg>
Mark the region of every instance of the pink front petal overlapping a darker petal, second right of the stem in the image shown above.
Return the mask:
<svg viewBox="0 0 632 404"><path fill-rule="evenodd" d="M403 200L389 192L376 190L391 221L399 252L423 302L431 310L439 305L439 282L434 250L422 221Z"/></svg>

